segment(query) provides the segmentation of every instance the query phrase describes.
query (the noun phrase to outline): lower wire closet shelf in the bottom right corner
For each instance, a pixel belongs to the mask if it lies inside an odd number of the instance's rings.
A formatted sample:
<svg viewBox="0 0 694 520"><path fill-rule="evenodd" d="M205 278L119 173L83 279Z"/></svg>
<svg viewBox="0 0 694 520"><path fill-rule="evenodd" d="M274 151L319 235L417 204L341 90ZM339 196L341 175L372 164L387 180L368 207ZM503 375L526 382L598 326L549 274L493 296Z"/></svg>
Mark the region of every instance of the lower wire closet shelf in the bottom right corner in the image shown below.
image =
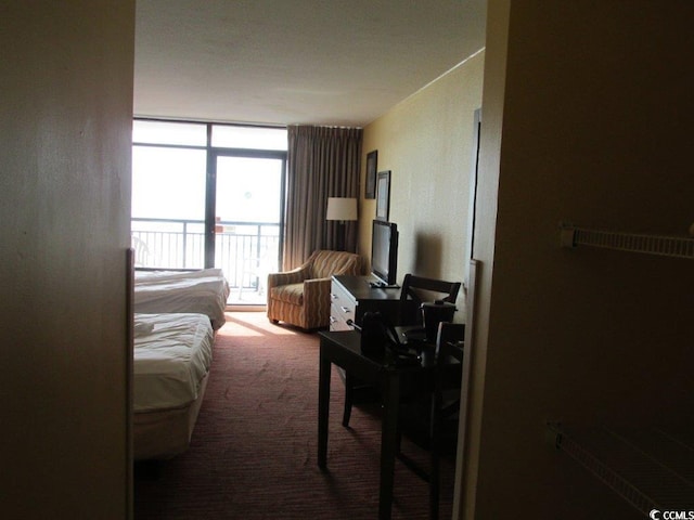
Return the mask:
<svg viewBox="0 0 694 520"><path fill-rule="evenodd" d="M694 437L663 428L548 427L557 450L644 515L694 509Z"/></svg>

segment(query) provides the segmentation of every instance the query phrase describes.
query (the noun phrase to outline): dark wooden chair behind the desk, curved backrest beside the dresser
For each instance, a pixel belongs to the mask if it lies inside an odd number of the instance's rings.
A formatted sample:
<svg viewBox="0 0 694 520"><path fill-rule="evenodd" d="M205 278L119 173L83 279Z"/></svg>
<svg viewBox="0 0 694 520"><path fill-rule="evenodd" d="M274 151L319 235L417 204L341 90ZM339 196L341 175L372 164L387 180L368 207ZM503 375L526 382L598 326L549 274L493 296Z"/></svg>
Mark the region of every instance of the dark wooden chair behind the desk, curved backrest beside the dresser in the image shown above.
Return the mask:
<svg viewBox="0 0 694 520"><path fill-rule="evenodd" d="M400 309L397 325L423 327L420 306L424 301L444 300L455 303L460 291L460 282L446 282L444 280L425 278L414 274L406 274L400 289ZM415 302L415 306L412 304ZM414 312L413 312L414 310ZM369 388L356 381L349 374L345 374L345 407L343 411L343 426L349 427L355 389L359 388L368 393L374 393L375 389Z"/></svg>

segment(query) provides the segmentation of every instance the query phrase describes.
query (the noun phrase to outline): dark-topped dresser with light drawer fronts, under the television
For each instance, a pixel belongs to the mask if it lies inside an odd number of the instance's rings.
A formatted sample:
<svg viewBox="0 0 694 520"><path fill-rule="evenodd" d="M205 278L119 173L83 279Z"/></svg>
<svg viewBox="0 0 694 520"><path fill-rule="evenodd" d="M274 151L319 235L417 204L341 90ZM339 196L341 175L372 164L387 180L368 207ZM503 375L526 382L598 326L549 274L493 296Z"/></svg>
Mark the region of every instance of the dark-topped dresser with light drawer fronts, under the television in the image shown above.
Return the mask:
<svg viewBox="0 0 694 520"><path fill-rule="evenodd" d="M333 276L331 283L330 329L351 330L351 323L361 324L367 312L381 312L394 325L400 323L400 288L372 287L377 282L373 276ZM404 302L402 311L407 323L414 320L419 311L412 300Z"/></svg>

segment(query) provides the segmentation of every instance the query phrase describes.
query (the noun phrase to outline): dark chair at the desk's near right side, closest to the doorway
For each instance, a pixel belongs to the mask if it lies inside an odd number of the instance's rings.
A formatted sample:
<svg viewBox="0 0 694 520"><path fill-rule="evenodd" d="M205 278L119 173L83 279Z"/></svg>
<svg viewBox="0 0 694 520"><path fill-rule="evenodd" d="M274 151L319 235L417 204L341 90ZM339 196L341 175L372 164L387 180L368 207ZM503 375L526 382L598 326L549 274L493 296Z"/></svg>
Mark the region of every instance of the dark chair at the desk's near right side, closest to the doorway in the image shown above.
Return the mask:
<svg viewBox="0 0 694 520"><path fill-rule="evenodd" d="M403 405L403 407L411 406L419 411L419 413L411 414L409 426L412 430L419 432L417 440L429 451L428 471L400 451L400 442L398 442L397 457L425 482L428 482L429 518L432 520L438 518L440 495L439 459L445 450L454 453L458 441L463 366L462 341L464 337L465 325L446 322L439 324L436 339L436 377L432 393L428 396L424 396L420 403ZM451 358L459 363L454 373L450 369ZM426 406L428 406L428 414L422 413L423 408L426 411ZM407 414L402 415L407 416ZM404 420L401 420L401 422L404 422ZM398 435L402 434L406 426L402 424ZM422 432L424 432L424 435L422 435Z"/></svg>

